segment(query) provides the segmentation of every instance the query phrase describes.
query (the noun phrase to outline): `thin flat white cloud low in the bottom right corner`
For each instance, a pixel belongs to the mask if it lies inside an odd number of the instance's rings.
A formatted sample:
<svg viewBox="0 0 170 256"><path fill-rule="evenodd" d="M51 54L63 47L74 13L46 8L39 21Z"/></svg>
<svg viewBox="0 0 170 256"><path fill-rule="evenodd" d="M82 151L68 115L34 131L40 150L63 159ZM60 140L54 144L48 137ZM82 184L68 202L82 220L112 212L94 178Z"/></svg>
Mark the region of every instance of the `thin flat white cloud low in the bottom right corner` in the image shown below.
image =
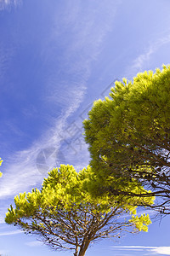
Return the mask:
<svg viewBox="0 0 170 256"><path fill-rule="evenodd" d="M118 247L111 247L111 249L123 250L123 251L142 251L144 252L143 255L150 255L150 254L170 255L170 247L118 246Z"/></svg>

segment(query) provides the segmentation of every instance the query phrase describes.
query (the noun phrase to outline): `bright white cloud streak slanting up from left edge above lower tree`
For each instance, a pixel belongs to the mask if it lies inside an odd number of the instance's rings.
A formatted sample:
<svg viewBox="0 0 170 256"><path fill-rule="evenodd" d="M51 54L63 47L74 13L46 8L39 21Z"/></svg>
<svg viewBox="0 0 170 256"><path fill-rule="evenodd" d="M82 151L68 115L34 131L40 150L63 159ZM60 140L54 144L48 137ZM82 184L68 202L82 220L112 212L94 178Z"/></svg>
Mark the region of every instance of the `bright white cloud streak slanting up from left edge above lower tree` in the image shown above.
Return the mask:
<svg viewBox="0 0 170 256"><path fill-rule="evenodd" d="M36 186L37 183L42 183L43 176L47 175L47 172L41 172L37 169L37 155L43 148L59 150L62 140L59 135L65 135L66 119L76 111L82 100L81 89L76 90L74 88L74 92L70 91L70 94L74 94L75 98L70 101L70 105L65 109L63 116L54 120L54 126L44 133L37 142L33 143L31 148L16 152L10 156L8 163L5 163L5 172L3 172L3 177L0 180L0 198L16 195ZM65 135L65 139L67 137L69 137L68 134ZM48 163L48 165L53 166L53 162Z"/></svg>

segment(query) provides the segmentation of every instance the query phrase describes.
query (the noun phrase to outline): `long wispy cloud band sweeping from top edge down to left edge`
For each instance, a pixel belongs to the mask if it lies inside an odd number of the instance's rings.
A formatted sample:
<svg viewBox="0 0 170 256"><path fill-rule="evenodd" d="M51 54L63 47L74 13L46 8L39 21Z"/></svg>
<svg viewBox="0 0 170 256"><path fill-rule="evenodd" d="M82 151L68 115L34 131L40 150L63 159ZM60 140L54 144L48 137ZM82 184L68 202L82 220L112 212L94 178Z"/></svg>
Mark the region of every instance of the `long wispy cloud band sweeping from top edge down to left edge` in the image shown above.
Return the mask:
<svg viewBox="0 0 170 256"><path fill-rule="evenodd" d="M85 6L82 2L75 1L75 4L68 2L65 4L65 13L62 13L62 17L58 15L57 20L54 18L54 22L58 26L54 26L54 31L42 49L42 61L54 61L58 52L51 48L51 42L53 44L55 40L57 42L59 33L62 31L70 32L71 30L69 44L68 42L62 43L65 45L65 52L59 71L65 72L64 78L67 79L58 81L55 67L50 71L45 85L47 94L44 96L44 103L60 104L62 106L61 113L58 118L51 118L53 120L51 128L44 132L42 137L37 138L30 148L10 155L10 160L4 163L5 172L0 181L0 198L14 196L36 186L37 183L42 183L42 178L47 174L37 170L37 154L43 148L59 150L63 140L59 134L65 133L65 127L69 125L68 118L83 101L92 63L98 57L102 44L105 42L105 36L107 32L111 31L115 18L115 3L111 1L111 4L106 4L106 2L96 2L95 8L88 6L85 13L83 13ZM89 4L92 3L89 1ZM105 20L102 20L102 17ZM66 38L66 40L68 39ZM58 87L59 82L60 87ZM71 140L71 135L65 135L64 139L67 137ZM87 148L84 150L87 152ZM68 148L67 152L65 151L65 159L68 162L71 155L73 155L71 148ZM49 163L48 165L50 166Z"/></svg>

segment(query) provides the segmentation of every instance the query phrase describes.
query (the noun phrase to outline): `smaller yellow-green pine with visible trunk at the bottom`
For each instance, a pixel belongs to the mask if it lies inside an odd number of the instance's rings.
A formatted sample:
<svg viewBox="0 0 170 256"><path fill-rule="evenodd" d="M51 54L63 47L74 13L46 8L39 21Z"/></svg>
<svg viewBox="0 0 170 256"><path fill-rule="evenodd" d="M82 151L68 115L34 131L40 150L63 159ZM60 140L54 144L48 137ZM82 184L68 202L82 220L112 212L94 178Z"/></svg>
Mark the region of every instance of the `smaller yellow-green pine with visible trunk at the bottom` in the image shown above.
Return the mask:
<svg viewBox="0 0 170 256"><path fill-rule="evenodd" d="M91 174L90 167L79 173L73 166L54 169L41 190L14 197L15 208L8 209L6 223L38 235L54 250L73 250L75 256L85 255L92 241L147 231L150 218L136 216L132 201L120 196L91 198L84 189Z"/></svg>

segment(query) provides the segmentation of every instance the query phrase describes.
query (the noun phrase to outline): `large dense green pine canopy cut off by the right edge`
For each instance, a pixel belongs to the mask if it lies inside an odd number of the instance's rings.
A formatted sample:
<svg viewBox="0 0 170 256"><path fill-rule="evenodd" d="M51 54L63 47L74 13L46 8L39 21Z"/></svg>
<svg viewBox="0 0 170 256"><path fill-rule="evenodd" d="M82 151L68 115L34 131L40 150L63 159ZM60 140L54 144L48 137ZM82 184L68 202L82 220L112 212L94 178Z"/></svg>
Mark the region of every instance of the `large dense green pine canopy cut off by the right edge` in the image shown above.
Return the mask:
<svg viewBox="0 0 170 256"><path fill-rule="evenodd" d="M161 212L170 213L170 66L116 81L110 96L94 102L84 121L96 186L127 194L123 184L135 178L152 190L140 196L160 196Z"/></svg>

